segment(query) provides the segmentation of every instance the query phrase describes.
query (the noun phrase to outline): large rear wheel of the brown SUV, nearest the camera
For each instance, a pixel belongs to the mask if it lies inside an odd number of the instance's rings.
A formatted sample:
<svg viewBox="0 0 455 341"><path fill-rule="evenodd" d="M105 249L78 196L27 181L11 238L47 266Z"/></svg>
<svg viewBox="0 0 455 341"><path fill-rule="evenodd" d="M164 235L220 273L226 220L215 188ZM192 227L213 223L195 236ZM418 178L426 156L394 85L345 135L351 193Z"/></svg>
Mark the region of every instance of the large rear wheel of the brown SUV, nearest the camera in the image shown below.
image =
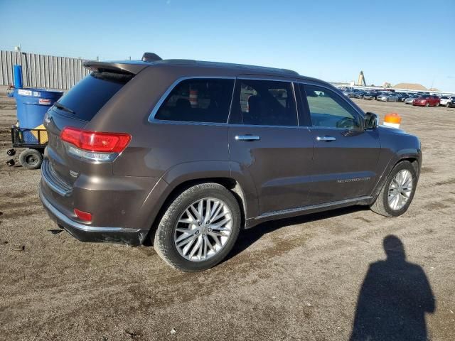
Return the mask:
<svg viewBox="0 0 455 341"><path fill-rule="evenodd" d="M205 217L207 217L207 200L219 200L219 202L223 202L225 205L223 206L223 212L228 213L220 212L218 214L223 215L223 217L220 218L223 221L230 215L230 221L223 224L225 228L230 229L230 234L228 238L225 239L224 244L222 237L215 237L217 241L220 242L220 245L218 245L218 242L215 242L215 238L213 237L216 226L213 222L217 222L219 224L220 220L213 220L212 224L204 224L199 221L198 216L194 213L194 211L192 212L191 218L190 215L188 215L187 212L191 210L191 206L196 205L201 200L203 201L203 206L200 207L200 210L203 211L203 215L205 215ZM213 210L215 203L216 202L210 203ZM199 207L197 206L196 210L198 209ZM209 219L213 218L214 217L212 216ZM185 220L185 222L182 222L182 220ZM190 220L195 223L192 224L189 222ZM203 217L202 220L205 220L205 218ZM197 221L198 224L196 224ZM238 202L234 195L232 195L232 193L223 185L218 183L201 183L199 185L194 185L178 195L178 197L176 197L176 199L173 200L173 202L171 202L168 206L166 212L164 212L164 215L156 229L154 248L161 259L166 261L168 265L180 271L195 272L210 269L220 263L220 261L222 261L225 256L229 254L240 232L241 221L242 218ZM228 227L228 224L230 224L230 227ZM210 227L213 227L213 229L210 229ZM182 232L182 230L189 232ZM219 234L228 233L224 230L219 231ZM184 234L189 237L185 237ZM178 247L178 242L176 242L182 237L183 239L181 239L181 243L184 243L189 239L193 240L185 244L186 246L190 245L186 255L183 255L185 247ZM191 253L193 253L194 249L199 245L198 243L202 244L198 250L200 248L205 249L206 259L203 259L203 254L199 254L198 251L196 251L195 255L191 256ZM215 249L209 249L208 243L210 243L210 245L217 250L215 251ZM210 255L210 252L213 253ZM188 256L190 259L187 258ZM200 258L196 259L197 257Z"/></svg>

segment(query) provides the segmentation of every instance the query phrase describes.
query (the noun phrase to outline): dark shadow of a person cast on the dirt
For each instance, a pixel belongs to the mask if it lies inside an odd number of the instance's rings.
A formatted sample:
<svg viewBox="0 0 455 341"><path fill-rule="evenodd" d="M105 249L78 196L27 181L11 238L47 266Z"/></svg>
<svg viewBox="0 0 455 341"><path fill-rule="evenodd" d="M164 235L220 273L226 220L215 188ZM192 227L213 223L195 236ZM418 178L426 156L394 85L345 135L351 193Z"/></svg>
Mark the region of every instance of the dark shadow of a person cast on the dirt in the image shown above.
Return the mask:
<svg viewBox="0 0 455 341"><path fill-rule="evenodd" d="M358 296L351 341L427 340L435 300L424 270L406 261L398 237L383 241L385 261L370 264Z"/></svg>

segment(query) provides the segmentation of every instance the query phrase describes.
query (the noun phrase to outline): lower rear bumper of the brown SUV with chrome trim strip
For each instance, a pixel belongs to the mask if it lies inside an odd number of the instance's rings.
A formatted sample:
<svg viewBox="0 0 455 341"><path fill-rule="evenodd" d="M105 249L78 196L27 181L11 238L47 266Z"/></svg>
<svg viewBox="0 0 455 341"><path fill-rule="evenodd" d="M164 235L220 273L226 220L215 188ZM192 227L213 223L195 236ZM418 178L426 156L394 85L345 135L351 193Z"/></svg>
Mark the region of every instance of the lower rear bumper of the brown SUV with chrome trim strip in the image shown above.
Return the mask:
<svg viewBox="0 0 455 341"><path fill-rule="evenodd" d="M81 224L67 217L60 212L54 205L46 199L39 189L39 196L45 210L48 212L50 219L58 224L59 227L68 231L73 237L81 242L110 242L139 246L144 242L149 229L130 229L124 227L96 227L87 224Z"/></svg>

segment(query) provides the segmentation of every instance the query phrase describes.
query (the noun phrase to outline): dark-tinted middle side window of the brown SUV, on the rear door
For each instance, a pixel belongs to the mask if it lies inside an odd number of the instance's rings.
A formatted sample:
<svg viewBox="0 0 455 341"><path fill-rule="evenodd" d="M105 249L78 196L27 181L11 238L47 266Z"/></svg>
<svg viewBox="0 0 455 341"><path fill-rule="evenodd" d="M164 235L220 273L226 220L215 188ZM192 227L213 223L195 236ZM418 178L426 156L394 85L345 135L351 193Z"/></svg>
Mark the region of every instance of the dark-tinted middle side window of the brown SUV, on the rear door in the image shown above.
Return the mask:
<svg viewBox="0 0 455 341"><path fill-rule="evenodd" d="M243 124L297 125L297 112L290 82L242 80L240 109Z"/></svg>

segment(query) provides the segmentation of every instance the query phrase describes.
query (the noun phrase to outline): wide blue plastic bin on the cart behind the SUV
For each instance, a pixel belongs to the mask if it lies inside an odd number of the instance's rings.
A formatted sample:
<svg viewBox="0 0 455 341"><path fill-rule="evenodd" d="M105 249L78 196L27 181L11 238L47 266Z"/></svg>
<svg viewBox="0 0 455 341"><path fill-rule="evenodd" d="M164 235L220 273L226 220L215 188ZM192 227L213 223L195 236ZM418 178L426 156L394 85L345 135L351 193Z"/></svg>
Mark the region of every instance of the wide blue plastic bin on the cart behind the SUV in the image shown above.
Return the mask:
<svg viewBox="0 0 455 341"><path fill-rule="evenodd" d="M63 92L61 91L34 88L14 89L10 96L16 99L19 128L44 129L41 126L44 114L62 95ZM24 136L26 142L33 143L38 141L33 134L27 135Z"/></svg>

